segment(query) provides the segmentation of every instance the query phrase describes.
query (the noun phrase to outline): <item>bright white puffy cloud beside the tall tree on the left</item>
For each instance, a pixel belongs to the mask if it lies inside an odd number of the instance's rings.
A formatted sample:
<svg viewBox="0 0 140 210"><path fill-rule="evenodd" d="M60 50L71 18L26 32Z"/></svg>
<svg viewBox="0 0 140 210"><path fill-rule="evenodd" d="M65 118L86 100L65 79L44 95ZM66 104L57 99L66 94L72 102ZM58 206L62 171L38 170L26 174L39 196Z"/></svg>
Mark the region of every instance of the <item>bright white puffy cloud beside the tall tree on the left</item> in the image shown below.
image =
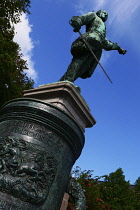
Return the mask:
<svg viewBox="0 0 140 210"><path fill-rule="evenodd" d="M30 37L32 31L32 25L29 24L29 20L25 14L21 16L21 22L14 25L15 37L14 41L17 42L21 47L23 59L27 60L28 68L27 74L32 79L37 79L37 72L34 68L34 61L32 60L32 50L34 48L33 41Z"/></svg>

